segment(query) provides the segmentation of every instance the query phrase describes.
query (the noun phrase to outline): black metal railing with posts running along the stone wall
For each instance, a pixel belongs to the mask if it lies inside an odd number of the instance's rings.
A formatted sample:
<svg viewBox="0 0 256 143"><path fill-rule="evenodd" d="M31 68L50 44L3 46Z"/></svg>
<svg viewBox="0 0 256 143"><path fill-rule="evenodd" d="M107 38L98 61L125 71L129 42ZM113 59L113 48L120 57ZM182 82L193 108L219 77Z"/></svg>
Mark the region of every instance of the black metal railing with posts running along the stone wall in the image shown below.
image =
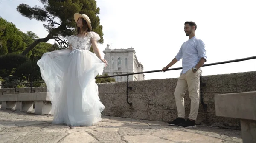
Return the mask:
<svg viewBox="0 0 256 143"><path fill-rule="evenodd" d="M227 64L227 63L232 63L232 62L241 62L241 61L246 61L246 60L250 60L250 59L256 59L256 56L251 56L251 57L247 57L247 58L242 58L242 59L235 59L235 60L230 60L230 61L224 61L224 62L216 62L216 63L212 63L212 64L204 64L202 67L207 67L207 66L212 66L212 65L218 65L218 64ZM182 67L178 67L178 68L171 68L171 69L167 69L166 71L170 71L170 70L181 70ZM109 78L109 77L116 77L116 76L127 76L127 86L126 86L126 101L129 105L132 105L131 102L129 102L128 97L129 97L129 90L132 90L132 87L129 87L129 76L130 75L135 75L135 74L143 74L143 73L155 73L155 72L162 72L162 70L151 70L151 71L146 71L146 72L137 72L137 73L127 73L127 74L121 74L121 75L112 75L112 76L99 76L96 77L95 79L101 79L101 78ZM32 85L35 83L44 83L43 82L31 82L31 83L23 83L23 84L30 84L30 93L35 92L35 90L32 90ZM15 84L15 93L17 85L19 84ZM4 91L4 84L2 84L3 86L3 90L2 90L2 94ZM203 100L203 92L202 92L202 87L206 86L206 83L202 82L202 76L200 76L200 101L201 104L203 105L203 107L207 107L207 104L204 103Z"/></svg>

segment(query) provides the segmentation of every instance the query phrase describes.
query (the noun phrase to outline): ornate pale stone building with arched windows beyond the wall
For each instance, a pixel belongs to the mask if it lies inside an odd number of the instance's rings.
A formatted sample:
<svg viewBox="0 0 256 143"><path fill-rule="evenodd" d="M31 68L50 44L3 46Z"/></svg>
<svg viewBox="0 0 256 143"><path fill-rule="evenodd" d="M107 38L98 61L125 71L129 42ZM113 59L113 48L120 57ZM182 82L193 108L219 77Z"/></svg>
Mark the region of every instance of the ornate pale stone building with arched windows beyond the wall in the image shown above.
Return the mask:
<svg viewBox="0 0 256 143"><path fill-rule="evenodd" d="M135 55L134 48L128 49L111 49L109 45L103 51L105 60L108 65L103 70L103 74L107 73L109 76L121 75L127 73L143 72L143 64L140 63ZM144 74L130 75L129 81L144 80ZM113 77L116 82L127 81L127 76Z"/></svg>

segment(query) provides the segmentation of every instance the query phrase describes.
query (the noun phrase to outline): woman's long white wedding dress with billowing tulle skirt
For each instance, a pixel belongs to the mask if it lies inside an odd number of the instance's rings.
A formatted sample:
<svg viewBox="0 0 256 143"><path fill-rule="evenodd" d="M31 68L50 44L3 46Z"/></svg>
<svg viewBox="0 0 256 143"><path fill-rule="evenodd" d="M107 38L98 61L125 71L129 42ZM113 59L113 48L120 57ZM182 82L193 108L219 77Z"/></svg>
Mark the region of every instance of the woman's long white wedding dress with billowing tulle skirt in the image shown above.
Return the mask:
<svg viewBox="0 0 256 143"><path fill-rule="evenodd" d="M91 39L98 41L100 37L95 32L87 37L69 36L72 51L47 52L37 62L52 102L54 124L91 126L102 120L105 106L94 78L105 63L89 51Z"/></svg>

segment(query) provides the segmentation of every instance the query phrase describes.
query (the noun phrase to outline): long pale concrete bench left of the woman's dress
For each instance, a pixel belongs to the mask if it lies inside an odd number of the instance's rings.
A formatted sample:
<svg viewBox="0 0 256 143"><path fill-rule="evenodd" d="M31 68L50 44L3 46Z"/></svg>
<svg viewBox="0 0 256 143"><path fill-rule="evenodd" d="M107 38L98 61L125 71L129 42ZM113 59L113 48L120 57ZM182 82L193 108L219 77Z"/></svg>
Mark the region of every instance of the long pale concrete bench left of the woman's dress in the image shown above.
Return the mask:
<svg viewBox="0 0 256 143"><path fill-rule="evenodd" d="M15 109L17 111L32 111L35 102L35 114L51 114L52 104L47 92L21 93L0 95L1 109Z"/></svg>

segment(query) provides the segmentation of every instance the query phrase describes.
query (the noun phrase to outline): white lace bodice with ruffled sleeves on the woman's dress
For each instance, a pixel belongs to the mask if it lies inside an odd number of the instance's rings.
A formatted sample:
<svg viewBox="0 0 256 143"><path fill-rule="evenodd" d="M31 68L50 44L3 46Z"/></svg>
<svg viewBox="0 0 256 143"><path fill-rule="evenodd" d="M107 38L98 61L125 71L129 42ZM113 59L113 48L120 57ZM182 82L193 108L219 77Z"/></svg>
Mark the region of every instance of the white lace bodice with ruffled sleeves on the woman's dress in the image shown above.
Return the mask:
<svg viewBox="0 0 256 143"><path fill-rule="evenodd" d="M100 39L99 34L95 32L89 32L87 36L85 37L78 37L76 35L67 36L67 43L71 45L72 50L76 49L84 49L84 50L90 50L90 47L92 45L91 40L98 41Z"/></svg>

